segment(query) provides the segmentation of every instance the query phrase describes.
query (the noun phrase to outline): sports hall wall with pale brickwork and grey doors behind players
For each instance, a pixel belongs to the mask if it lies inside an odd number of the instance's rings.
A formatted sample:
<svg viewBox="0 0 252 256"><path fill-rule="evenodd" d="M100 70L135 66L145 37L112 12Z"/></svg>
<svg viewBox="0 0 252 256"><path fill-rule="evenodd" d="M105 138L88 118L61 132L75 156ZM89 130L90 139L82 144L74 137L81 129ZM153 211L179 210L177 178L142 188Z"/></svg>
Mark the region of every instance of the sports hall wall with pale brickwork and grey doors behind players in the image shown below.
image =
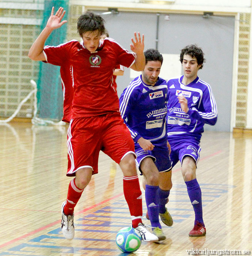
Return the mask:
<svg viewBox="0 0 252 256"><path fill-rule="evenodd" d="M76 31L77 18L83 11L88 10L87 6L80 4L82 2L88 1L70 0L67 40L73 38L80 40ZM92 1L92 3L94 2L98 1ZM100 0L99 2L108 4L110 1ZM118 2L122 2L122 0L118 0ZM176 4L183 4L183 6L185 6L185 2L189 4L191 1L175 1ZM211 1L211 5L215 4L214 10L218 11L218 5L221 6L223 2L229 6L237 4L235 0L214 0ZM43 0L0 1L0 118L11 116L22 99L30 93L33 89L29 82L30 79L38 81L40 64L31 61L27 54L32 42L41 31L43 3ZM187 44L187 39L188 43L197 43L201 46L206 53L207 62L205 67L199 71L199 75L211 84L219 112L217 125L214 127L207 125L206 129L232 131L234 127L246 128L246 113L249 111L247 101L251 23L251 15L246 8L251 7L251 1L239 1L238 9L243 11L241 7L244 7L244 12L238 13L235 18L234 16L217 15L203 18L202 15L189 14L189 12L193 13L193 5L200 3L199 0L190 3L191 11L188 11L188 14L179 14L179 12L169 14L168 20L165 19L165 14L160 14L158 29L157 10L151 12L149 9L148 13L129 10L129 12L103 15L103 17L107 21L106 27L110 36L127 49L129 49L130 38L134 30L145 34L145 49L156 48L156 33L158 32L157 47L163 54L179 54L179 50ZM107 5L103 6L104 11L107 12ZM102 8L99 7L99 9L99 13L102 13ZM136 29L134 29L135 27ZM237 27L238 29L236 29ZM235 35L234 31L236 31ZM238 38L236 39L234 36ZM237 44L235 47L233 47L234 41ZM234 59L232 59L233 52L236 52ZM213 53L219 58L217 61ZM237 67L232 69L232 65ZM234 70L233 81L232 70ZM119 93L129 84L130 80L130 72L126 69L125 75L117 78ZM34 110L33 100L32 97L22 106L17 117L31 117Z"/></svg>

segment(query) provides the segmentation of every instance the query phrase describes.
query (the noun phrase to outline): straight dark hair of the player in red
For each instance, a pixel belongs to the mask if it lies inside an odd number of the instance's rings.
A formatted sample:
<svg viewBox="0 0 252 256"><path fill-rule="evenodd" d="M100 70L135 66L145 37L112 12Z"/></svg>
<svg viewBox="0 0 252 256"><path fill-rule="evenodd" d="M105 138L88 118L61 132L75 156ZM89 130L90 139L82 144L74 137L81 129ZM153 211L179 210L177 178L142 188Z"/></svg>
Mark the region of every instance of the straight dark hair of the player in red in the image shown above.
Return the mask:
<svg viewBox="0 0 252 256"><path fill-rule="evenodd" d="M93 12L84 12L77 22L77 31L81 37L88 31L98 30L100 35L104 34L104 19L99 14L94 14Z"/></svg>

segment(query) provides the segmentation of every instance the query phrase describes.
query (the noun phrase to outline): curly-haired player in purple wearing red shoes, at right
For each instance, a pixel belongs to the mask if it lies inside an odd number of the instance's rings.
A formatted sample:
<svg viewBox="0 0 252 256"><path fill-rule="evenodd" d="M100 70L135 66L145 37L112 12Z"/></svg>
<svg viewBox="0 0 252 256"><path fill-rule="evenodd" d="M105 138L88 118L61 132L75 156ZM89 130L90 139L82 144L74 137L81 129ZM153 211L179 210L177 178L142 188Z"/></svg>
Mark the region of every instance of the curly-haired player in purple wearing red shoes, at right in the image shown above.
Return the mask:
<svg viewBox="0 0 252 256"><path fill-rule="evenodd" d="M172 166L181 162L182 175L195 212L194 227L189 236L205 236L201 188L196 179L199 145L204 124L217 121L217 106L209 84L198 77L205 62L204 53L196 45L181 50L180 62L184 75L167 82L168 141L171 145Z"/></svg>

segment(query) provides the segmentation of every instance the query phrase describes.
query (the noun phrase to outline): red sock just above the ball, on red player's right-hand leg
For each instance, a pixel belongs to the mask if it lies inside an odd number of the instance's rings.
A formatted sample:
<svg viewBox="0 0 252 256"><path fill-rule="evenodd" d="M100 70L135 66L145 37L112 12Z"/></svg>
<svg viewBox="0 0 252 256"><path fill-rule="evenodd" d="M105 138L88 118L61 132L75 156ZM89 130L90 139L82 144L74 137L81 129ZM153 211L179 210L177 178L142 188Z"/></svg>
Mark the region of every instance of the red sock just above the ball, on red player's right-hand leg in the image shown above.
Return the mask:
<svg viewBox="0 0 252 256"><path fill-rule="evenodd" d="M132 226L137 227L142 222L142 192L139 185L138 176L123 176L123 193L129 206L132 218Z"/></svg>

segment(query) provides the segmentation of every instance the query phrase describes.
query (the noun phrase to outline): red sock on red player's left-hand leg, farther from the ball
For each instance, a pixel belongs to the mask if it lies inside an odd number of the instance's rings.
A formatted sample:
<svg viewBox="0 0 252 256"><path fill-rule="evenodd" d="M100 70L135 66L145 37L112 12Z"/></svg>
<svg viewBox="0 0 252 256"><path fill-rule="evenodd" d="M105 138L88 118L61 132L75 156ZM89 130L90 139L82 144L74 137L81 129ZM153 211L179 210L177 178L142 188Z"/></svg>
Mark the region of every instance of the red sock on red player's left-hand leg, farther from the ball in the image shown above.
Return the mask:
<svg viewBox="0 0 252 256"><path fill-rule="evenodd" d="M73 215L73 210L79 201L84 189L77 188L75 184L75 178L73 178L68 186L68 194L66 199L66 205L64 207L65 215Z"/></svg>

